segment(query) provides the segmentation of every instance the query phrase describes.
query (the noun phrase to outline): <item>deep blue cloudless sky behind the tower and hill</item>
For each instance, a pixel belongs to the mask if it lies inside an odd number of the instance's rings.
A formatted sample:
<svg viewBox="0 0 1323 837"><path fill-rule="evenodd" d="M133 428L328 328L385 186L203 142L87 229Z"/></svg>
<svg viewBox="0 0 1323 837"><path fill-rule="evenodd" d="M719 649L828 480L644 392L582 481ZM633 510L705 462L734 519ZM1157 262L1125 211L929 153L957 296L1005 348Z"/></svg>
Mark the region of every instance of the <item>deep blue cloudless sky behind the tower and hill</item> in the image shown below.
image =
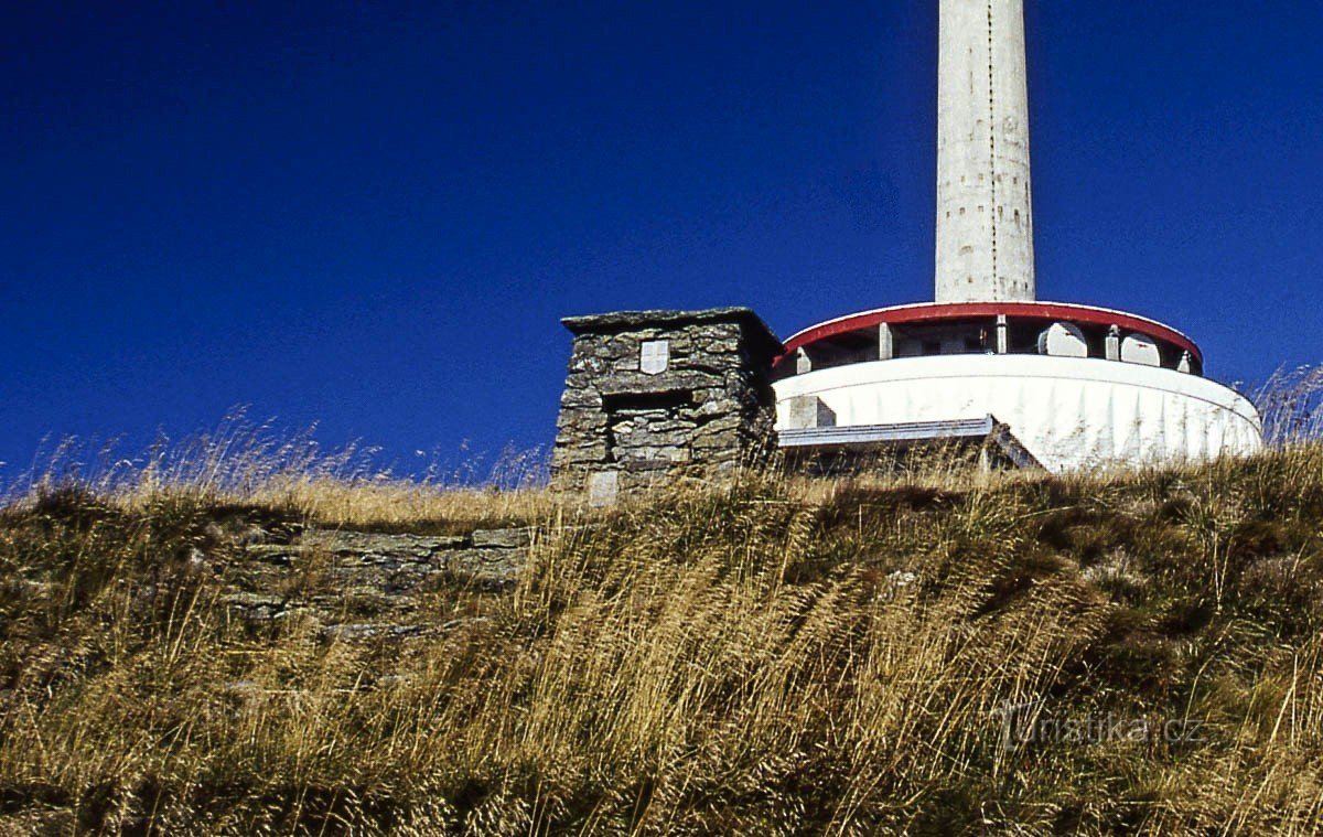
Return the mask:
<svg viewBox="0 0 1323 837"><path fill-rule="evenodd" d="M1027 1L1040 297L1323 360L1323 4ZM558 318L931 295L937 0L0 11L0 461L532 448Z"/></svg>

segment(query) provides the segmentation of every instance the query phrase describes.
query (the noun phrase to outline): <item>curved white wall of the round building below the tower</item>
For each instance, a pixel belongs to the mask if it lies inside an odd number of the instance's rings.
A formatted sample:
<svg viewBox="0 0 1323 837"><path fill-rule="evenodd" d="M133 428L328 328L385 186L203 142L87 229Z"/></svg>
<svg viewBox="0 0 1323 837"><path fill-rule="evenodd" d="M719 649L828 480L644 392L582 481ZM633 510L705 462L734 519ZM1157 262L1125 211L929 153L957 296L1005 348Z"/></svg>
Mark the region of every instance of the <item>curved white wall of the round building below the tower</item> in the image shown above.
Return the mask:
<svg viewBox="0 0 1323 837"><path fill-rule="evenodd" d="M839 426L996 416L1052 470L1203 461L1262 448L1258 412L1240 393L1174 369L1099 359L949 355L859 363L775 384L816 396Z"/></svg>

